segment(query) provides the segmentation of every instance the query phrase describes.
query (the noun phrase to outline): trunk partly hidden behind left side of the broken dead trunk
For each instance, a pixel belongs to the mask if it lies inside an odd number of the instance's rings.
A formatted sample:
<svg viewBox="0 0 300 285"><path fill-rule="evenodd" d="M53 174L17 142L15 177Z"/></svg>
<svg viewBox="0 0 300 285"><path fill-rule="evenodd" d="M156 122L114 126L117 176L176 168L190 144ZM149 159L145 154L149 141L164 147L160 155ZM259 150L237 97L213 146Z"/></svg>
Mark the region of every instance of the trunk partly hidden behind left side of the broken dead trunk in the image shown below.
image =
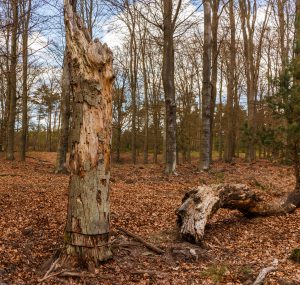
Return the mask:
<svg viewBox="0 0 300 285"><path fill-rule="evenodd" d="M64 56L63 74L61 80L61 127L59 134L59 144L56 156L55 173L67 173L66 161L69 142L69 125L70 125L70 67L68 62L67 51Z"/></svg>

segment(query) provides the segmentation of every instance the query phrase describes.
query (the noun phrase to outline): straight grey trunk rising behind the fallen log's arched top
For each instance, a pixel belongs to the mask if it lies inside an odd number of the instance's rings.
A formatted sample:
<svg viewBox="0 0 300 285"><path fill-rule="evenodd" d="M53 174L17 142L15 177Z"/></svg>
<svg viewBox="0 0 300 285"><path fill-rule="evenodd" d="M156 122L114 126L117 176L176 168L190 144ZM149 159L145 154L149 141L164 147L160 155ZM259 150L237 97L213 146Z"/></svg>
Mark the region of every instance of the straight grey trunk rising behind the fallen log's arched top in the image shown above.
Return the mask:
<svg viewBox="0 0 300 285"><path fill-rule="evenodd" d="M203 89L202 89L202 132L200 146L200 168L210 167L210 122L211 122L211 7L204 2L204 45L203 45Z"/></svg>

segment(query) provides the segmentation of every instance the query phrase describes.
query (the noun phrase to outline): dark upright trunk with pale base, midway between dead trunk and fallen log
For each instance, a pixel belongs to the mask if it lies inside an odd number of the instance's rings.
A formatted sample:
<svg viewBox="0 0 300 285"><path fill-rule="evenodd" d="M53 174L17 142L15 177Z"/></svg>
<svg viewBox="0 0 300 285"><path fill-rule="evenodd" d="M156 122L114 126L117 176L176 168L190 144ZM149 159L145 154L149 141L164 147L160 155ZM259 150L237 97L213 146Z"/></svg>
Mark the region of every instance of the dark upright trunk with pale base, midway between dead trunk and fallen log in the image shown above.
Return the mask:
<svg viewBox="0 0 300 285"><path fill-rule="evenodd" d="M163 1L163 87L166 107L166 168L167 174L176 169L176 101L174 83L174 23L172 21L172 0Z"/></svg>

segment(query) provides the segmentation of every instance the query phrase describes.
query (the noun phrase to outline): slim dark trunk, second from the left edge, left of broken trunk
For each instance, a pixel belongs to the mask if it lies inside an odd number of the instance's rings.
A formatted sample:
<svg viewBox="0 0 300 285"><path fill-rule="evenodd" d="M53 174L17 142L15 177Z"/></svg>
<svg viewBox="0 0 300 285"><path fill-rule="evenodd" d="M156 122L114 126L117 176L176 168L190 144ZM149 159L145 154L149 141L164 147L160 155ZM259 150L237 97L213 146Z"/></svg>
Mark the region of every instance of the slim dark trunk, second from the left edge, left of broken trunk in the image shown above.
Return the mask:
<svg viewBox="0 0 300 285"><path fill-rule="evenodd" d="M26 2L27 11L26 11ZM31 0L23 1L23 17L24 17L24 30L22 33L23 47L22 47L22 61L23 61L23 85L22 85L22 134L20 146L20 160L24 161L26 156L27 134L28 134L28 27L31 16ZM26 16L25 16L26 15Z"/></svg>

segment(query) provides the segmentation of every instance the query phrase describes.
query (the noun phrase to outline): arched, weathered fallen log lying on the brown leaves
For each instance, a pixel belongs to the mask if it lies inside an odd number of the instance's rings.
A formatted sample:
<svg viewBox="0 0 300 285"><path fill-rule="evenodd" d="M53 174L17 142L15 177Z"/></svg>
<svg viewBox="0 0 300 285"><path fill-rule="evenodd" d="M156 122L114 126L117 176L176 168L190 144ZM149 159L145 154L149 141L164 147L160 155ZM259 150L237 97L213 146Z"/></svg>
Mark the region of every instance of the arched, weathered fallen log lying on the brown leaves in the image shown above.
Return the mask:
<svg viewBox="0 0 300 285"><path fill-rule="evenodd" d="M181 236L190 242L200 242L208 220L220 208L239 210L251 218L289 213L296 206L287 202L267 203L244 184L199 186L185 194L176 211Z"/></svg>

